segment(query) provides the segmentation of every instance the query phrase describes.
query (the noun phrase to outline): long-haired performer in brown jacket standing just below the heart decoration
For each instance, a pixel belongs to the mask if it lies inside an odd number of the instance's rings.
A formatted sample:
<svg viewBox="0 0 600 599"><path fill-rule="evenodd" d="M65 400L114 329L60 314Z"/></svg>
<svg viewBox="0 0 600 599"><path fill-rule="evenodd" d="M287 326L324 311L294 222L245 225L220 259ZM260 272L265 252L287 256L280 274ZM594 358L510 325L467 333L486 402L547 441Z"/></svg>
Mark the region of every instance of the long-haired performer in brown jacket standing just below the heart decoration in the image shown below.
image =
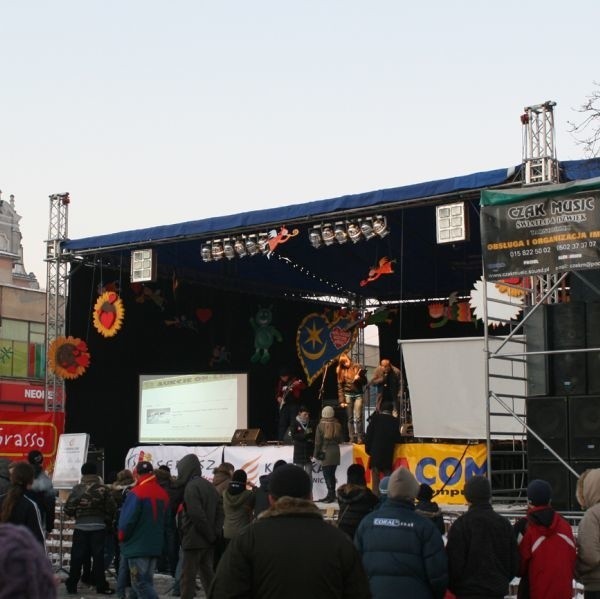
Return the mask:
<svg viewBox="0 0 600 599"><path fill-rule="evenodd" d="M338 383L338 401L346 408L348 433L352 443L364 443L363 391L367 383L366 370L343 353L335 369Z"/></svg>

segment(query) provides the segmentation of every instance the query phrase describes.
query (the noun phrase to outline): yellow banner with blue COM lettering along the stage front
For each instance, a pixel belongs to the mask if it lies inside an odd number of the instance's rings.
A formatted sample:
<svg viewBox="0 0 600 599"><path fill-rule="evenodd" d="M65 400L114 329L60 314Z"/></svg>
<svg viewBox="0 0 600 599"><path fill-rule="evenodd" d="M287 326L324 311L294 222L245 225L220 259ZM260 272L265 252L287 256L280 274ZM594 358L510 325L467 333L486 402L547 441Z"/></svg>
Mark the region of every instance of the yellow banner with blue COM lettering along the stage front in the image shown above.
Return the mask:
<svg viewBox="0 0 600 599"><path fill-rule="evenodd" d="M371 486L369 456L364 445L354 445L353 461L362 464ZM396 445L394 469L408 468L420 483L427 483L440 504L466 504L465 482L476 474L487 474L487 448L485 443L453 445L446 443L404 443Z"/></svg>

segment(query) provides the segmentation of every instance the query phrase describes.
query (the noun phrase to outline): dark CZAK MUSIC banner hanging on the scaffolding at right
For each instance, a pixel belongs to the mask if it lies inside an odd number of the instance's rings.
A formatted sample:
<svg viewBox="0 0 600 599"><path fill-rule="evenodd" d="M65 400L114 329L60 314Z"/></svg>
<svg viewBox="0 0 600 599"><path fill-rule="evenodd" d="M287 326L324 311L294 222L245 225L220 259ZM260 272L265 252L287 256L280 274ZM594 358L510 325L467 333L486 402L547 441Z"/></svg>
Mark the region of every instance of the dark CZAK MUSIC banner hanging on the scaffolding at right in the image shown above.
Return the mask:
<svg viewBox="0 0 600 599"><path fill-rule="evenodd" d="M481 204L483 268L489 281L600 268L597 180L587 186L483 191Z"/></svg>

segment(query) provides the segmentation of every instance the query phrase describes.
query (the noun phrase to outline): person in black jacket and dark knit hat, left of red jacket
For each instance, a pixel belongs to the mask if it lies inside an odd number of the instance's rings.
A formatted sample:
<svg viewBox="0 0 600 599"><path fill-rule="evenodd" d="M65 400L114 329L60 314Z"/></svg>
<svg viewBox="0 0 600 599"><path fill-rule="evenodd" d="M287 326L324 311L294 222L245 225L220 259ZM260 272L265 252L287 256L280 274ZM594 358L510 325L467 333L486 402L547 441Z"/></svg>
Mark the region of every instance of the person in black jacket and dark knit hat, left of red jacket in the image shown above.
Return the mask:
<svg viewBox="0 0 600 599"><path fill-rule="evenodd" d="M500 599L519 569L515 534L509 520L494 511L486 476L471 477L464 492L469 509L448 531L448 588L458 599Z"/></svg>

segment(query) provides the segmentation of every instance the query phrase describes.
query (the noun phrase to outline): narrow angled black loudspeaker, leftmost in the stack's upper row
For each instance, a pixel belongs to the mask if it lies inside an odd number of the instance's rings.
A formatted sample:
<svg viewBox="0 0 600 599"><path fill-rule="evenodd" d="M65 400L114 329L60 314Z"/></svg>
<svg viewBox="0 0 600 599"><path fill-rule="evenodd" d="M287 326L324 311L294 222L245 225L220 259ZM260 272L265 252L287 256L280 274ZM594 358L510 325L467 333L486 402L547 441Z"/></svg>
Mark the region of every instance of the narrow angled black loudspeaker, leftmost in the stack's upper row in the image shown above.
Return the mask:
<svg viewBox="0 0 600 599"><path fill-rule="evenodd" d="M527 352L543 352L548 350L547 306L539 304L529 309L529 317L525 320L524 333L527 340ZM527 360L527 395L550 395L548 376L548 354L526 356Z"/></svg>

